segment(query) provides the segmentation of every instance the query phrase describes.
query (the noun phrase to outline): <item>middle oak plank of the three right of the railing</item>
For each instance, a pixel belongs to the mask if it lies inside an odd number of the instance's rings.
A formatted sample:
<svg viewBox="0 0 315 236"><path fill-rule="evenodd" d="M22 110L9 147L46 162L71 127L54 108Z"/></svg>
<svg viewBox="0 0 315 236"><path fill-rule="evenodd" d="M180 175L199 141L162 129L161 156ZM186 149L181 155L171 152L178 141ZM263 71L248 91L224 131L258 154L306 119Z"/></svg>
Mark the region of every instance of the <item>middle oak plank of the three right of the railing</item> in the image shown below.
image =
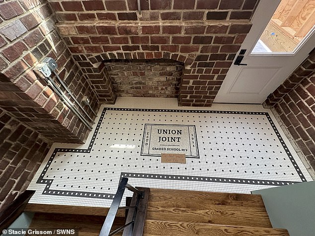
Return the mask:
<svg viewBox="0 0 315 236"><path fill-rule="evenodd" d="M213 205L210 209L165 208L149 205L147 219L271 228L267 212L261 209L221 205Z"/></svg>

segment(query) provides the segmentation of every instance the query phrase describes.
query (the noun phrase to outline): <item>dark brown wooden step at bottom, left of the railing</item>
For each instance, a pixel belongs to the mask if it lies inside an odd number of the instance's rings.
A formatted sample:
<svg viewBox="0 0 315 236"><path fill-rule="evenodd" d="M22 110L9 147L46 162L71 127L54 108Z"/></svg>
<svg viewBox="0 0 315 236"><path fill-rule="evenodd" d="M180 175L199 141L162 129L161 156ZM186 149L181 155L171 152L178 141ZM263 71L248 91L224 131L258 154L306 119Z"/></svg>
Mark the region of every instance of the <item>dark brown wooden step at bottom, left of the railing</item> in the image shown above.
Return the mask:
<svg viewBox="0 0 315 236"><path fill-rule="evenodd" d="M35 213L29 228L35 229L79 229L79 236L99 236L104 216ZM112 230L125 224L125 218L115 218ZM117 234L122 235L122 233Z"/></svg>

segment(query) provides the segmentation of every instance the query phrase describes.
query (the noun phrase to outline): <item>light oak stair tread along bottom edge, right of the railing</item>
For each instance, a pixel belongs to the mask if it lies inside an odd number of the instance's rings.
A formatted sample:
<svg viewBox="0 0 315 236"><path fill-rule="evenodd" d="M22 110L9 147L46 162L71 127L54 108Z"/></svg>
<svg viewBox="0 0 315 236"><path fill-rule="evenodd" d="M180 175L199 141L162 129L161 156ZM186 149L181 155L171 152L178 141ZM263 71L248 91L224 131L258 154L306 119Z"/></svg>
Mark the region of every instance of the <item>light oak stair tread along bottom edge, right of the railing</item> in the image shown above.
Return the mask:
<svg viewBox="0 0 315 236"><path fill-rule="evenodd" d="M224 226L202 223L179 223L165 221L150 221L145 223L144 236L289 236L287 230Z"/></svg>

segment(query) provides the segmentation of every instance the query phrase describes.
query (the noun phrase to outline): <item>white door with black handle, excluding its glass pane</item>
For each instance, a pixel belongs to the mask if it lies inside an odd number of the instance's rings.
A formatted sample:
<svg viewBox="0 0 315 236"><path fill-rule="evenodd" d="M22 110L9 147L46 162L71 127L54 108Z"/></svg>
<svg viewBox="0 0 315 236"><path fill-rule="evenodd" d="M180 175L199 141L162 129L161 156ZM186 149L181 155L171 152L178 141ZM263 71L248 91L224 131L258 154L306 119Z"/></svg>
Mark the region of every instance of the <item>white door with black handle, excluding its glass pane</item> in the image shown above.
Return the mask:
<svg viewBox="0 0 315 236"><path fill-rule="evenodd" d="M246 49L241 63L247 65L232 64L215 103L263 103L314 48L313 27L292 53L252 53L279 2L280 0L260 0L252 18L252 28L241 46L241 49Z"/></svg>

